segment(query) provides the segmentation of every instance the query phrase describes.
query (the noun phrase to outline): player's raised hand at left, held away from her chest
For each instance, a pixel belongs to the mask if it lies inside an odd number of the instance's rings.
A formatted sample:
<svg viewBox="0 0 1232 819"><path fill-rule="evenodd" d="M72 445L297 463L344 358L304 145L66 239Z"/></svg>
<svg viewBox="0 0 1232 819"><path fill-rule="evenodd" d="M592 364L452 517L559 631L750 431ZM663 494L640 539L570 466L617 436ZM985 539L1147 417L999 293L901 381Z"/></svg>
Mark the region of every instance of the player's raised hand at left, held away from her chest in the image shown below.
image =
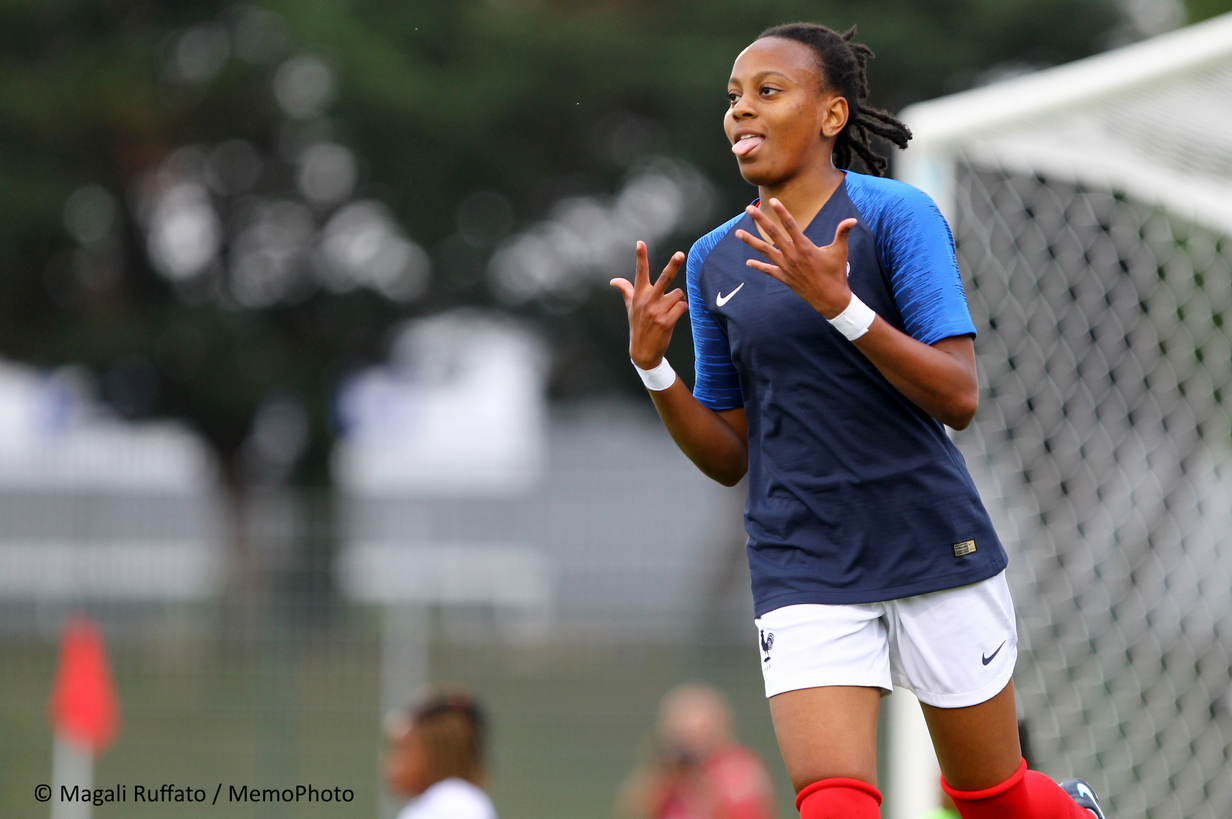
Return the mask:
<svg viewBox="0 0 1232 819"><path fill-rule="evenodd" d="M628 357L642 369L659 366L668 351L676 321L689 312L689 298L683 289L667 292L684 262L685 255L676 251L652 284L646 243L638 241L633 281L630 282L627 278L611 281L611 286L625 297L625 308L628 310Z"/></svg>

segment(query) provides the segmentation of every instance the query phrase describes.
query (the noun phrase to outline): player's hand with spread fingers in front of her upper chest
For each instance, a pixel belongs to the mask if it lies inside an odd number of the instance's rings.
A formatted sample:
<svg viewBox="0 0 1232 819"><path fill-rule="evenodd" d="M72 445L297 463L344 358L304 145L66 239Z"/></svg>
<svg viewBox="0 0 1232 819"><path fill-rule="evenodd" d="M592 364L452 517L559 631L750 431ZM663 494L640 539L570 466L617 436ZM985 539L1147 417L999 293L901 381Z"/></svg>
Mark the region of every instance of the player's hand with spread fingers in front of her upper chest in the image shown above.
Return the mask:
<svg viewBox="0 0 1232 819"><path fill-rule="evenodd" d="M750 259L749 267L774 276L796 292L813 309L833 319L851 303L851 288L846 281L848 234L856 225L855 219L844 219L834 232L834 241L818 248L804 235L787 208L779 200L770 200L782 228L774 219L752 204L745 212L753 217L774 244L745 230L737 230L736 238L769 259L772 264Z"/></svg>

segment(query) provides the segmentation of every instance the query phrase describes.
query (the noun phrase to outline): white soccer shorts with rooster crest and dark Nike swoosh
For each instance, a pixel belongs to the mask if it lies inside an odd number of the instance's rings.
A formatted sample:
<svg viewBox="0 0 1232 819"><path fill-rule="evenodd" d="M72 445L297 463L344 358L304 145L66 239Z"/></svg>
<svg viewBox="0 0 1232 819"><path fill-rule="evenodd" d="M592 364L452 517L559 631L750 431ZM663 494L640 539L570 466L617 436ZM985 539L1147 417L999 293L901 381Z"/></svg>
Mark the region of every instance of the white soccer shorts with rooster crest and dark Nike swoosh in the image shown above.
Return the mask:
<svg viewBox="0 0 1232 819"><path fill-rule="evenodd" d="M784 606L756 618L766 697L899 686L939 708L975 706L1014 675L1018 629L1005 573L875 603Z"/></svg>

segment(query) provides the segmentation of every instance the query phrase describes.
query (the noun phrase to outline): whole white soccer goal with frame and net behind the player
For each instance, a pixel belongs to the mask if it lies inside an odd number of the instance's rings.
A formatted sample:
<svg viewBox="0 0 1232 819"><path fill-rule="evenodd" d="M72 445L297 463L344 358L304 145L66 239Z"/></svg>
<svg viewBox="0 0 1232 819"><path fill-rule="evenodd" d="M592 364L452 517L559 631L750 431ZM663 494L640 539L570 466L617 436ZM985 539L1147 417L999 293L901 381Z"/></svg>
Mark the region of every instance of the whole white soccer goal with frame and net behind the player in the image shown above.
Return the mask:
<svg viewBox="0 0 1232 819"><path fill-rule="evenodd" d="M903 112L954 227L1035 766L1232 815L1232 15Z"/></svg>

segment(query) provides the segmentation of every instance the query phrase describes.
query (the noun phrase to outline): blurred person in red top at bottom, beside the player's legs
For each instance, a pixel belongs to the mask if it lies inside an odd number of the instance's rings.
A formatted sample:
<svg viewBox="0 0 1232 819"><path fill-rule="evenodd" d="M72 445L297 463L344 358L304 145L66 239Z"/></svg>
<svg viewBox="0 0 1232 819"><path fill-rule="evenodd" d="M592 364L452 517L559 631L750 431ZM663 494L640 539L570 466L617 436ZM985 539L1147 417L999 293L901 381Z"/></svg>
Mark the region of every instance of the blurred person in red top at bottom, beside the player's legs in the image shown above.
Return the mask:
<svg viewBox="0 0 1232 819"><path fill-rule="evenodd" d="M739 745L722 693L683 685L659 704L655 746L620 794L623 819L774 819L774 786Z"/></svg>

